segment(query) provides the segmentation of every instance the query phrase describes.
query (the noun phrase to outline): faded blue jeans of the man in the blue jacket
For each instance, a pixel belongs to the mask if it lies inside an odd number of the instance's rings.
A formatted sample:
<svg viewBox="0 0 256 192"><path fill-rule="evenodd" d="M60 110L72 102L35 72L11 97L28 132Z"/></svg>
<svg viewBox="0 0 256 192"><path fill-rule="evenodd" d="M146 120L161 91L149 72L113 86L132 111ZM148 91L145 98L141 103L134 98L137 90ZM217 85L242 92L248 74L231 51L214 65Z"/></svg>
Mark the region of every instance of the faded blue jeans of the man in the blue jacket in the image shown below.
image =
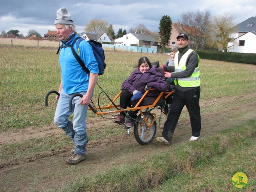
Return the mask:
<svg viewBox="0 0 256 192"><path fill-rule="evenodd" d="M79 92L85 95L86 92ZM86 144L88 142L86 133L86 114L88 106L78 104L81 97L77 96L72 100L72 111L69 111L68 104L73 94L66 94L62 89L60 98L55 111L54 123L68 135L75 145L75 153L84 155L86 153ZM68 117L74 112L73 123Z"/></svg>

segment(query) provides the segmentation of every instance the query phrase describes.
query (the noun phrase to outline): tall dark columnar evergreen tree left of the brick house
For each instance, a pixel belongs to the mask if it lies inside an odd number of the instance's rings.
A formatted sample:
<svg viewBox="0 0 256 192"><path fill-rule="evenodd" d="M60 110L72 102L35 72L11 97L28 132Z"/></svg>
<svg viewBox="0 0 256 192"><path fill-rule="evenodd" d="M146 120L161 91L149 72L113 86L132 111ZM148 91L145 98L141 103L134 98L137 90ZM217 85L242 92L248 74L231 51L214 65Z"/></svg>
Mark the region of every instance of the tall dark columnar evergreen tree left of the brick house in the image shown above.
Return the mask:
<svg viewBox="0 0 256 192"><path fill-rule="evenodd" d="M172 20L170 16L162 16L158 29L160 46L166 48L170 44L170 37L172 34Z"/></svg>

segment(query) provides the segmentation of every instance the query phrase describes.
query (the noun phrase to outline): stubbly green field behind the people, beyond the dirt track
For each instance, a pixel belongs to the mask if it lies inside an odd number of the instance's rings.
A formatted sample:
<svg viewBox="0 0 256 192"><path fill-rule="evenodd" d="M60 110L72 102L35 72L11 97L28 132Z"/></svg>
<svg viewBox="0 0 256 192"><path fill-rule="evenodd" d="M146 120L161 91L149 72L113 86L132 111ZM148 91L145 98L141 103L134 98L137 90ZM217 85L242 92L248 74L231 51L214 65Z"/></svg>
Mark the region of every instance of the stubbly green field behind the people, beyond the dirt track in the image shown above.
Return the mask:
<svg viewBox="0 0 256 192"><path fill-rule="evenodd" d="M56 107L55 95L44 96L58 90L60 66L55 48L29 48L0 46L0 131L20 129L29 125L52 123ZM111 99L118 94L122 82L134 70L141 56L164 64L168 55L106 51L106 70L98 83ZM253 65L201 60L201 99L214 99L255 91L256 68ZM93 102L98 105L101 90L96 86ZM116 101L118 103L119 100ZM100 94L100 106L109 104ZM89 116L95 116L91 112Z"/></svg>

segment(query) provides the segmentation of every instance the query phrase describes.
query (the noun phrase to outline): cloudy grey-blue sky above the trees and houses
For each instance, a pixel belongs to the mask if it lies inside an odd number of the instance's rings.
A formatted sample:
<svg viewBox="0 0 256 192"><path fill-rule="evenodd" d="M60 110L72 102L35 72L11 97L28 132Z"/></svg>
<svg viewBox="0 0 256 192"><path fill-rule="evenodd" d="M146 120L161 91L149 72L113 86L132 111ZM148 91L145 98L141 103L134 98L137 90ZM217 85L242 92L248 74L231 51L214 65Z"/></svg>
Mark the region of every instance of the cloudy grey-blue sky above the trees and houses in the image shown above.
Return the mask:
<svg viewBox="0 0 256 192"><path fill-rule="evenodd" d="M27 36L36 30L42 36L56 30L56 11L66 7L77 32L92 19L105 19L117 33L119 28L134 28L144 24L151 31L158 31L162 16L169 15L176 23L182 13L210 11L212 15L230 13L235 24L256 16L256 0L1 0L0 31L19 30Z"/></svg>

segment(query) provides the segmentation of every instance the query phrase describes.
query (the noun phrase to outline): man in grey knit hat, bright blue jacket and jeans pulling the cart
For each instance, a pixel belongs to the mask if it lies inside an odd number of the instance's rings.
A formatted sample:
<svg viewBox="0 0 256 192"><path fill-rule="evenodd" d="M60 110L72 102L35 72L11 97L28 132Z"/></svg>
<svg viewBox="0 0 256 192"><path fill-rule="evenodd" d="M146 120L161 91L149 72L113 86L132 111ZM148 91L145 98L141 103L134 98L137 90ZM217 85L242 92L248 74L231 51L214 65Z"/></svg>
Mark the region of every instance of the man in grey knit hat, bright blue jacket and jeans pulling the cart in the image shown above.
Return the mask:
<svg viewBox="0 0 256 192"><path fill-rule="evenodd" d="M61 42L71 45L78 37L70 12L66 8L57 11L54 22ZM73 44L76 50L76 42ZM86 41L79 44L80 58L90 71L87 74L74 57L70 47L61 48L59 62L61 67L60 96L56 96L58 104L55 111L54 123L61 128L74 142L74 148L70 151L72 156L66 159L69 164L77 164L85 160L86 144L88 142L86 133L86 114L94 87L98 80L98 63L92 52L92 47ZM69 111L69 100L73 94L80 93L82 98L75 97L72 100L72 111ZM74 113L73 122L68 117Z"/></svg>

